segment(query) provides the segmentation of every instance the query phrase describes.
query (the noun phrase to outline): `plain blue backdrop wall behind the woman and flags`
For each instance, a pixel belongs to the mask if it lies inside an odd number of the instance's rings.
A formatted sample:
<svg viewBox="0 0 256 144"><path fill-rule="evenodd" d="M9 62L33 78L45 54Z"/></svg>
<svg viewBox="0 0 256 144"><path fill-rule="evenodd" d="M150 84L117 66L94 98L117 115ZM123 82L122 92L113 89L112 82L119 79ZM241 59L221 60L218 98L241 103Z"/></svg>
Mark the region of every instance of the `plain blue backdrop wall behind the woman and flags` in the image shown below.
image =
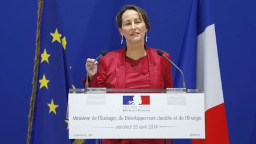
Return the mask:
<svg viewBox="0 0 256 144"><path fill-rule="evenodd" d="M37 1L1 3L0 143L25 143L33 78ZM139 5L148 13L152 28L146 44L167 51L178 63L191 1L161 1L161 4L146 0L62 1L57 8L66 15L59 15L59 23L62 30L69 30L65 31L66 52L73 56L69 64L73 69L76 88L82 87L87 57L96 57L103 49L110 51L124 46L120 44L121 37L114 17L118 9L126 4ZM213 4L230 141L255 143L256 1L216 0ZM78 8L81 5L84 7ZM81 18L84 21L76 23ZM77 35L81 32L83 35Z"/></svg>

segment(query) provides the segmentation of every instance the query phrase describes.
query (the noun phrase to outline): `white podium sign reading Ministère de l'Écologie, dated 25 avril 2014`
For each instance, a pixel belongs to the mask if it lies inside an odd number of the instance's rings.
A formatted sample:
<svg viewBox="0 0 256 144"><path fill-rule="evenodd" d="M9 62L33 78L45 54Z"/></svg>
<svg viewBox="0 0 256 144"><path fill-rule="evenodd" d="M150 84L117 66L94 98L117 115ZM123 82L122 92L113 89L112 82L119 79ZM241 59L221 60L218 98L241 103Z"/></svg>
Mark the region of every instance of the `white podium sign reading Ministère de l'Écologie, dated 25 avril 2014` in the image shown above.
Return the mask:
<svg viewBox="0 0 256 144"><path fill-rule="evenodd" d="M204 94L69 94L69 139L205 137Z"/></svg>

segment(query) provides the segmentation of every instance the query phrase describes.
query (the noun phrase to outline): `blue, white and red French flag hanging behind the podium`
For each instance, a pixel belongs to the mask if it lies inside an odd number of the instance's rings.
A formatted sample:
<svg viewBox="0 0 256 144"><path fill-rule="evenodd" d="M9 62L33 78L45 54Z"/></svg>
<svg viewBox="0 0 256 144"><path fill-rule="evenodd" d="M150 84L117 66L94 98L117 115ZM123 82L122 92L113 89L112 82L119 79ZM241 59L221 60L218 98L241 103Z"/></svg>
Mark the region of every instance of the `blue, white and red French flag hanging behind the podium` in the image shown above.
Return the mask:
<svg viewBox="0 0 256 144"><path fill-rule="evenodd" d="M205 94L206 139L193 144L229 143L211 0L193 0L178 62L188 88ZM181 87L180 75L175 87Z"/></svg>

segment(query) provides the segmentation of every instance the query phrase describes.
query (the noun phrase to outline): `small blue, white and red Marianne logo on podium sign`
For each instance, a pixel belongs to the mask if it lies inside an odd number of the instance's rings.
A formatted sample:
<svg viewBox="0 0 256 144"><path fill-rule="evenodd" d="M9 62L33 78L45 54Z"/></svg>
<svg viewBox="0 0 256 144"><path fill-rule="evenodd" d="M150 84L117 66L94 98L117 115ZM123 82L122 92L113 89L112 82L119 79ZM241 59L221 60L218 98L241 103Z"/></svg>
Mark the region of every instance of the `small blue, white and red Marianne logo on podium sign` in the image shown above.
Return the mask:
<svg viewBox="0 0 256 144"><path fill-rule="evenodd" d="M123 105L149 105L149 95L123 95Z"/></svg>

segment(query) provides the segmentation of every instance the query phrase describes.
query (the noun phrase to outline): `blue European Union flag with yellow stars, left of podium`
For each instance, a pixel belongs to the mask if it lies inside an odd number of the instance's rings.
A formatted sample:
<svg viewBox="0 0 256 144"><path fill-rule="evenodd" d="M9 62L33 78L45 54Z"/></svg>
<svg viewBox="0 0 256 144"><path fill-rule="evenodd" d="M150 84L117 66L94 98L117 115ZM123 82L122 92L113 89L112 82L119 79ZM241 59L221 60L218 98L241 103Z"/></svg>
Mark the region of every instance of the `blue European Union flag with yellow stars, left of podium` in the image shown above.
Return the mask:
<svg viewBox="0 0 256 144"><path fill-rule="evenodd" d="M31 97L33 122L30 143L72 143L68 139L68 119L66 108L68 90L75 88L71 78L72 66L68 64L68 39L64 28L59 23L57 1L39 1L39 17L37 29L38 71L36 94ZM41 11L43 8L43 11ZM40 38L40 39L39 39ZM40 44L40 45L39 45ZM36 61L37 62L37 61ZM35 66L35 68L37 68ZM33 99L33 100L32 100ZM30 135L30 136L29 136ZM84 142L84 140L78 140ZM76 143L76 141L75 141Z"/></svg>

